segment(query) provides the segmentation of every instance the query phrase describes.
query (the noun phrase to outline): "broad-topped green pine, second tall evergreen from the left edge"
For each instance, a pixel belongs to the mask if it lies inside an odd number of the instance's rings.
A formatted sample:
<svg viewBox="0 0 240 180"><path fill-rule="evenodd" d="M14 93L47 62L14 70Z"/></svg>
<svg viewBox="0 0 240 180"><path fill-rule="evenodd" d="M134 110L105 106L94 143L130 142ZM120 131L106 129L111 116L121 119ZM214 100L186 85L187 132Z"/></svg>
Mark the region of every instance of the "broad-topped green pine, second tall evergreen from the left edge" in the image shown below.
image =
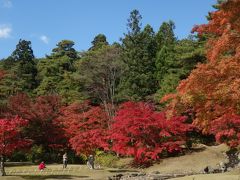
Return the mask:
<svg viewBox="0 0 240 180"><path fill-rule="evenodd" d="M63 40L52 50L52 54L39 60L39 86L35 89L37 95L58 94L64 102L81 99L80 88L73 76L74 63L78 60L74 42Z"/></svg>

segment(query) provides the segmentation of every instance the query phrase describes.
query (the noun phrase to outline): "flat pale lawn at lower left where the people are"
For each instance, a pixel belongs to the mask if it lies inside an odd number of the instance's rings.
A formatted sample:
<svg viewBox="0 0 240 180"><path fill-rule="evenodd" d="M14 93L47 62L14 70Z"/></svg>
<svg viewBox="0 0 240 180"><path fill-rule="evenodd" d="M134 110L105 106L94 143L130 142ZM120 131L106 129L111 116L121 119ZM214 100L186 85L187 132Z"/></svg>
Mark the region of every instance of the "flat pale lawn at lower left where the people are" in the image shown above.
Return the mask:
<svg viewBox="0 0 240 180"><path fill-rule="evenodd" d="M61 164L47 165L43 171L38 166L13 166L6 167L6 177L1 180L22 180L22 179L107 179L119 173L136 172L131 169L101 168L91 170L86 165L68 165L66 169Z"/></svg>

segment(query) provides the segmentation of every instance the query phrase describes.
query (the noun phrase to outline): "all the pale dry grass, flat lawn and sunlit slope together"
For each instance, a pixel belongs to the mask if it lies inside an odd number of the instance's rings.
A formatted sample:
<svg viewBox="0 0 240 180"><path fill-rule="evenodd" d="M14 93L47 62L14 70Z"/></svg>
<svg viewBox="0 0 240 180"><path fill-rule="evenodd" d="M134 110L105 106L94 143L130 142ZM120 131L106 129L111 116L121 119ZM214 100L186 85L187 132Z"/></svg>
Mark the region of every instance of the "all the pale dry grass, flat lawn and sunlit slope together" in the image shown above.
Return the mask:
<svg viewBox="0 0 240 180"><path fill-rule="evenodd" d="M225 145L204 146L200 151L195 151L184 156L162 159L160 163L142 169L141 172L151 173L159 171L163 174L181 174L184 172L199 173L204 167L210 165L217 167L218 163L225 160L223 152L228 148ZM115 174L134 173L138 170L124 166L129 164L132 158L122 158L116 163L118 168L102 168L90 170L86 165L68 165L66 169L62 164L47 164L44 171L39 171L38 166L10 166L6 167L8 176L0 177L0 180L21 179L107 179ZM126 167L126 168L124 168ZM139 170L140 171L140 170ZM200 174L177 178L176 180L240 180L240 169L224 174ZM174 179L175 180L175 179Z"/></svg>

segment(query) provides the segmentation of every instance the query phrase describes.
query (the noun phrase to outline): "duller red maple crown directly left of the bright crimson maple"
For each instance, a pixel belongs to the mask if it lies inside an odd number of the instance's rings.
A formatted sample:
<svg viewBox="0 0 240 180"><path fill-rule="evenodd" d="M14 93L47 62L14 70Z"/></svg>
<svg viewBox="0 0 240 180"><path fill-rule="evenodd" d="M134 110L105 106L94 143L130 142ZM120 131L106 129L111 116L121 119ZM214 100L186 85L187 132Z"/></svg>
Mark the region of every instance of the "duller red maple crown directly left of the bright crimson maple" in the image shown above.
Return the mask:
<svg viewBox="0 0 240 180"><path fill-rule="evenodd" d="M70 146L78 154L107 149L109 122L102 107L91 106L87 101L73 103L61 109L58 121L63 124Z"/></svg>

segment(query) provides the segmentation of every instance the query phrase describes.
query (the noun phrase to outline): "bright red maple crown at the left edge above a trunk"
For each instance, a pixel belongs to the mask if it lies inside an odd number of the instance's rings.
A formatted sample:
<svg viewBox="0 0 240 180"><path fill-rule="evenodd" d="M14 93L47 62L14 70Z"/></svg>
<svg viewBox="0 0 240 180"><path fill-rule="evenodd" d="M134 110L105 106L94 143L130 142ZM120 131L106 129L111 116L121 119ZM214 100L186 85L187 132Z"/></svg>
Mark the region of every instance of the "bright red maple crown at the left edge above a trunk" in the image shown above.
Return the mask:
<svg viewBox="0 0 240 180"><path fill-rule="evenodd" d="M0 155L11 155L15 150L25 148L31 141L21 136L23 127L28 125L27 120L20 117L0 119Z"/></svg>

